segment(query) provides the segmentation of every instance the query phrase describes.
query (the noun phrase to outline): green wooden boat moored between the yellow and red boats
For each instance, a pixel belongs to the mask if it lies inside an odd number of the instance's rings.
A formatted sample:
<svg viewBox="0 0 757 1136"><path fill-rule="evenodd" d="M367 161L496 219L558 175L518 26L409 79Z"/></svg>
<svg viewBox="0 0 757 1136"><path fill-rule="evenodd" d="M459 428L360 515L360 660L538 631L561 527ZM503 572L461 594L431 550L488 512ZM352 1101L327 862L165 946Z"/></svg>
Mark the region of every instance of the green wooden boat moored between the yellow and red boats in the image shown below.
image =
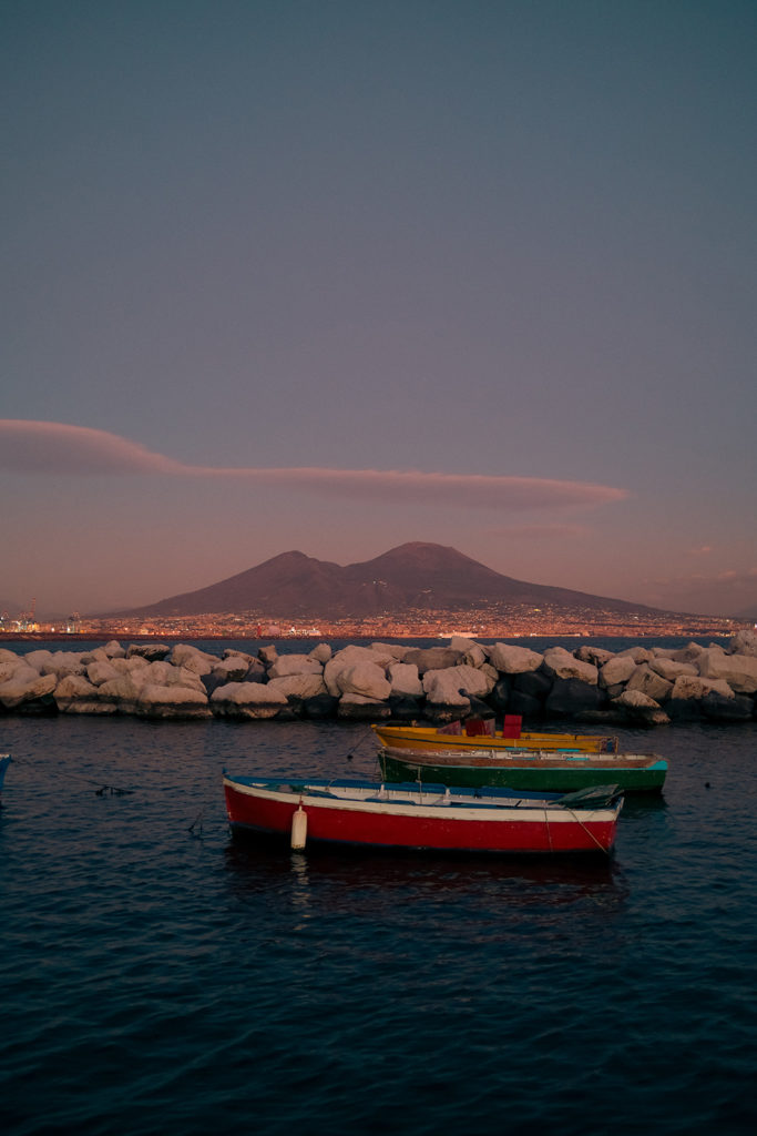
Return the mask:
<svg viewBox="0 0 757 1136"><path fill-rule="evenodd" d="M579 753L565 750L402 750L378 754L385 782L495 785L510 790L573 793L617 785L626 793L659 793L667 761L655 753Z"/></svg>

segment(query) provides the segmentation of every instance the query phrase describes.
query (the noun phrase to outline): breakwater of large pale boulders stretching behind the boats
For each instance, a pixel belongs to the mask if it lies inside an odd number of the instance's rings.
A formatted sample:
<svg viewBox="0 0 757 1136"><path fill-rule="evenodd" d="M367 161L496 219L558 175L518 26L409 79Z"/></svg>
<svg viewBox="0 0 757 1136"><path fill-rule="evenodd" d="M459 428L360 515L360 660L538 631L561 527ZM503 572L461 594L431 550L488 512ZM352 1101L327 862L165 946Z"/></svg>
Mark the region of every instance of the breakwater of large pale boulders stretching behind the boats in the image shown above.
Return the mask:
<svg viewBox="0 0 757 1136"><path fill-rule="evenodd" d="M0 712L153 719L428 720L520 715L659 726L757 717L757 632L722 646L583 644L532 651L453 637L445 646L319 643L308 653L211 654L112 641L89 651L0 648Z"/></svg>

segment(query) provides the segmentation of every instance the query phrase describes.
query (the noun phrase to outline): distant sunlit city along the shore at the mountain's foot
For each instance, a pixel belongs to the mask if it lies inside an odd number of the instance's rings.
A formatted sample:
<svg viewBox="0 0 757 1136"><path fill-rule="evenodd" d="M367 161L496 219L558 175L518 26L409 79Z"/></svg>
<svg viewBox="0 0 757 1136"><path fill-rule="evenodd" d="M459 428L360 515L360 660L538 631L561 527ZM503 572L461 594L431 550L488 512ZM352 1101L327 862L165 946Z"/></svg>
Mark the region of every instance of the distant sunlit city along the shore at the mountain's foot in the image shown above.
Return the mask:
<svg viewBox="0 0 757 1136"><path fill-rule="evenodd" d="M524 638L528 636L701 636L731 635L746 620L640 610L638 613L564 605L495 603L466 610L384 611L367 617L297 620L263 611L208 612L192 616L83 617L41 620L34 611L0 615L0 637L111 638Z"/></svg>

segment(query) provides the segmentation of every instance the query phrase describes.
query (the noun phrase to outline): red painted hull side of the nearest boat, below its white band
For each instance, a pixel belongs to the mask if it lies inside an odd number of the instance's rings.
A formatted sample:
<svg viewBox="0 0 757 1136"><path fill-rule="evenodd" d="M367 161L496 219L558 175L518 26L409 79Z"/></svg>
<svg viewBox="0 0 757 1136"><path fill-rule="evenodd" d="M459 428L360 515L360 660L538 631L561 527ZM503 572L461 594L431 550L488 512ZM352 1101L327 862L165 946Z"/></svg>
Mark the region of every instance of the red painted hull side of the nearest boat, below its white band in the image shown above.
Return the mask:
<svg viewBox="0 0 757 1136"><path fill-rule="evenodd" d="M246 827L288 836L298 800L271 801L225 786L226 808L233 827ZM533 819L457 820L440 817L398 816L347 809L321 809L303 804L308 815L308 840L386 847L439 849L480 852L608 852L615 838L616 818L548 822L544 812Z"/></svg>

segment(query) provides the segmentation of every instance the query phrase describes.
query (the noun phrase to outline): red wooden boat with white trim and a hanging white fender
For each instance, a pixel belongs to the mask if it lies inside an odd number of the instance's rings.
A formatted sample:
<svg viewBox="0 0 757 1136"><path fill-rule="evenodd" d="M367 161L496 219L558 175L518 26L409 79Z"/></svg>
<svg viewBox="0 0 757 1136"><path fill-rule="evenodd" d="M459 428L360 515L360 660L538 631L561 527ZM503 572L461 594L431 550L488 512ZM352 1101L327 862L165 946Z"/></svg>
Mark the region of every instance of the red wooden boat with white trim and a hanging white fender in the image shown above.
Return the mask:
<svg viewBox="0 0 757 1136"><path fill-rule="evenodd" d="M369 780L233 777L224 793L234 834L381 849L464 852L609 852L616 788L535 794Z"/></svg>

